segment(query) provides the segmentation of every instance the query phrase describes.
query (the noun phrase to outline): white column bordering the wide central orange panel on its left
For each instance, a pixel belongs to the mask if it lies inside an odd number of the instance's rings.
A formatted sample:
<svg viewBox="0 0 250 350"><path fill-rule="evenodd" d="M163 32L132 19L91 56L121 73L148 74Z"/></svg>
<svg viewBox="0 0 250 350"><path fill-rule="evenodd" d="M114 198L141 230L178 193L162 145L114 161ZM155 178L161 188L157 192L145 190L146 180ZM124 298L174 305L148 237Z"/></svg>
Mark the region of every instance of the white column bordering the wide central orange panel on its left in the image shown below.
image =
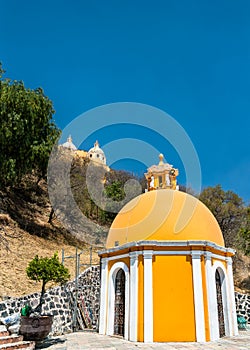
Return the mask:
<svg viewBox="0 0 250 350"><path fill-rule="evenodd" d="M153 269L152 250L144 250L144 342L153 342Z"/></svg>

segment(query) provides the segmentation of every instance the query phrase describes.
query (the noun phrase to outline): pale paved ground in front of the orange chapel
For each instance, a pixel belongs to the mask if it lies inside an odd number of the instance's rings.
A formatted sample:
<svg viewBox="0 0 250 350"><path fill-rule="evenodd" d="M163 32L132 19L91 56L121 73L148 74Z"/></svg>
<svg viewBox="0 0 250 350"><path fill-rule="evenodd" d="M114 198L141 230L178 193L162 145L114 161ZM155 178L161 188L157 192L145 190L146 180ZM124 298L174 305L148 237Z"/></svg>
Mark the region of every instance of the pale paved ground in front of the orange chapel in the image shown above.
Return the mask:
<svg viewBox="0 0 250 350"><path fill-rule="evenodd" d="M236 337L224 337L218 341L208 343L133 343L122 338L100 335L95 332L70 333L60 337L47 339L36 349L57 350L82 350L82 349L109 349L109 350L132 350L132 349L178 349L178 350L249 350L250 329L241 331Z"/></svg>

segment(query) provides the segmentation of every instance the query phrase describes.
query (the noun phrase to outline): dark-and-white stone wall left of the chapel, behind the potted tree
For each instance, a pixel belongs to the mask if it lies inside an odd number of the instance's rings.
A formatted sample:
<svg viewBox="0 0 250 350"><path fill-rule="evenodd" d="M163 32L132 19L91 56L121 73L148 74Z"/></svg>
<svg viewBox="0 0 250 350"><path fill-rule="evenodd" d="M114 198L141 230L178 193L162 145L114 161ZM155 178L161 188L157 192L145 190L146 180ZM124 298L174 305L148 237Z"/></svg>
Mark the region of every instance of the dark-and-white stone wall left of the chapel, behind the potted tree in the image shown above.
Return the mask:
<svg viewBox="0 0 250 350"><path fill-rule="evenodd" d="M50 335L60 335L71 332L74 327L74 304L78 295L78 312L75 329L79 328L79 321L82 326L96 329L98 327L99 315L99 294L100 274L99 266L91 266L78 278L78 292L76 293L75 281L68 282L62 287L49 289L44 295L42 314L54 315L52 332ZM0 318L20 312L27 303L35 308L39 303L40 293L26 295L20 298L7 299L0 302ZM79 305L84 313L86 325ZM79 318L81 318L79 320Z"/></svg>

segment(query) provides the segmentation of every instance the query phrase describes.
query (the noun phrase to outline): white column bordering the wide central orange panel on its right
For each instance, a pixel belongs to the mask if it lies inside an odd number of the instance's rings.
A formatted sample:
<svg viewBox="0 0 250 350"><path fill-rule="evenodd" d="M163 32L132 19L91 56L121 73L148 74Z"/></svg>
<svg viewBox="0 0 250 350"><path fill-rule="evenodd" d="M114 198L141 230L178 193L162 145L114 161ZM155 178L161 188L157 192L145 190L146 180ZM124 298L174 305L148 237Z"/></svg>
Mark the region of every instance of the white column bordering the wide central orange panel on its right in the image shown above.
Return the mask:
<svg viewBox="0 0 250 350"><path fill-rule="evenodd" d="M193 271L193 288L194 288L194 312L195 312L195 329L196 341L204 342L205 337L205 319L204 319L204 302L202 288L202 272L200 252L192 251L192 271Z"/></svg>

